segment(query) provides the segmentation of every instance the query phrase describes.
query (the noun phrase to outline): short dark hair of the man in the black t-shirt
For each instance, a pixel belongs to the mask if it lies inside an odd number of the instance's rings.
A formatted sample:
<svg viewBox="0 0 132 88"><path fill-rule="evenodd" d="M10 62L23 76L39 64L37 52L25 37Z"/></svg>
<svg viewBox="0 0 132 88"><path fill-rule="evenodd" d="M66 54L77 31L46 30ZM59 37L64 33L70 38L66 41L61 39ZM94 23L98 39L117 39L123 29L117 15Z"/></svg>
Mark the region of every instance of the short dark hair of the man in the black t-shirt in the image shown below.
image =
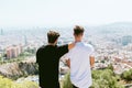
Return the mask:
<svg viewBox="0 0 132 88"><path fill-rule="evenodd" d="M55 41L59 37L59 33L55 31L50 31L47 33L48 43L55 43Z"/></svg>

